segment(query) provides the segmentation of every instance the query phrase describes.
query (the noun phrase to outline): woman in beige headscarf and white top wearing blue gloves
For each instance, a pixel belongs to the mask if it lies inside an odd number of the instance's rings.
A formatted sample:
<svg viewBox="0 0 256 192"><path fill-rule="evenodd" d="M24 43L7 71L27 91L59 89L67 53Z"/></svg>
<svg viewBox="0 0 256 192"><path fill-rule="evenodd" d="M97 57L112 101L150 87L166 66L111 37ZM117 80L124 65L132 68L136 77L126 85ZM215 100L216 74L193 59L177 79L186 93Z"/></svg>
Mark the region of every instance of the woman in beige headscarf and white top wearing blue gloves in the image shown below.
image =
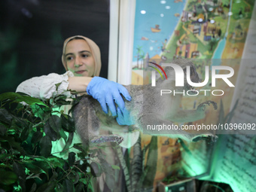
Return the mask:
<svg viewBox="0 0 256 192"><path fill-rule="evenodd" d="M129 114L125 110L120 94L130 101L131 97L122 85L105 78L99 78L101 69L100 50L90 38L75 35L64 41L62 64L66 69L64 75L50 74L23 81L16 92L26 93L39 99L49 99L52 96L63 94L72 96L72 93L84 94L87 92L97 99L102 110L107 114L108 109L112 116L117 116L117 123L130 125ZM56 87L56 84L59 84ZM72 90L72 91L70 91ZM115 103L118 105L116 109Z"/></svg>

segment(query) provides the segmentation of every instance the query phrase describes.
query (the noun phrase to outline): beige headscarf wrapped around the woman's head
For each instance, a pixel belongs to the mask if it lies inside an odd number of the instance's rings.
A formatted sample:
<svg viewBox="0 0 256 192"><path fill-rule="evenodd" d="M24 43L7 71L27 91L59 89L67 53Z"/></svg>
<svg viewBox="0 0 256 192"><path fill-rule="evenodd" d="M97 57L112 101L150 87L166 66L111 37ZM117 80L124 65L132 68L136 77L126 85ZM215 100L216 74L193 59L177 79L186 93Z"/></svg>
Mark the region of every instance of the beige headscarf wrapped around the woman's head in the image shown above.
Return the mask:
<svg viewBox="0 0 256 192"><path fill-rule="evenodd" d="M62 50L62 58L61 59L62 59L62 64L65 67L66 71L68 71L68 68L67 68L67 65L66 65L66 62L65 62L65 59L64 59L65 58L64 56L65 56L66 45L69 43L69 41L71 41L74 38L83 38L85 41L87 41L87 44L89 45L90 50L92 51L92 55L93 55L93 59L94 59L94 63L95 63L95 69L94 69L93 77L94 76L99 76L100 69L102 68L102 61L100 59L99 47L93 40L91 40L90 38L86 38L82 35L75 35L75 36L72 36L70 38L67 38L64 41L63 50Z"/></svg>

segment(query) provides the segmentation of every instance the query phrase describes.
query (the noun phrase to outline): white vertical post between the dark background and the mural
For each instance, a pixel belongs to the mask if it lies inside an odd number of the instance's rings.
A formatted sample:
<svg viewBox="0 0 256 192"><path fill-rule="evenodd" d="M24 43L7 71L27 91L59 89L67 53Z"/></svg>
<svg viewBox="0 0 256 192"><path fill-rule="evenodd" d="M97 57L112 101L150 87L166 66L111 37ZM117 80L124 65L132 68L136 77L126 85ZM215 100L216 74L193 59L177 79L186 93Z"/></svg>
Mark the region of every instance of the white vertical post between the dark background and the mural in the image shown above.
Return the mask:
<svg viewBox="0 0 256 192"><path fill-rule="evenodd" d="M136 0L111 0L108 80L131 84Z"/></svg>

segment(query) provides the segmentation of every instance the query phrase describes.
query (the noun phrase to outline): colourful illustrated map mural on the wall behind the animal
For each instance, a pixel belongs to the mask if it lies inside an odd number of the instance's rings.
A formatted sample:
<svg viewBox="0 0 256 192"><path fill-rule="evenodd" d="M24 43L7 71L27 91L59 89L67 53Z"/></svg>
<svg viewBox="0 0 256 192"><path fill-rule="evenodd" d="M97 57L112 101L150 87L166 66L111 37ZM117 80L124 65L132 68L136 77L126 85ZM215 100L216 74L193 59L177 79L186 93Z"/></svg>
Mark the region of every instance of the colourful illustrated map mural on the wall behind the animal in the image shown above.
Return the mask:
<svg viewBox="0 0 256 192"><path fill-rule="evenodd" d="M132 84L151 82L151 76L143 73L144 62L154 60L160 64L178 57L196 59L202 79L204 66L232 66L235 75L231 81L235 83L253 8L253 0L136 1ZM216 99L209 95L203 99L218 104L222 100L221 112L208 111L206 119L197 123L216 123L220 114L230 111L234 89L224 84L216 89L225 90L225 96ZM195 108L202 96L195 98L184 97L181 108ZM151 136L142 136L142 146L150 139ZM186 145L179 140L158 137L155 184L163 178L173 182L207 172L211 151L212 146L206 142Z"/></svg>

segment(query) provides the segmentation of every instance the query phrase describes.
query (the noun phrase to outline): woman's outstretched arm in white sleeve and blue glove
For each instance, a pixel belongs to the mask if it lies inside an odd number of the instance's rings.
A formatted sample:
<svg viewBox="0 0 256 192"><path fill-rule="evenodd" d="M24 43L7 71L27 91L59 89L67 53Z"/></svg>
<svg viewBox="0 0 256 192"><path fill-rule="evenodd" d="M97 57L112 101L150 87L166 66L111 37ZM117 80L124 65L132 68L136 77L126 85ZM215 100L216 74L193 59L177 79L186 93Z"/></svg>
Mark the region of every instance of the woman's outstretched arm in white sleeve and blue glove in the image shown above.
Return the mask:
<svg viewBox="0 0 256 192"><path fill-rule="evenodd" d="M120 109L119 114L129 117L129 114L124 112L125 104L120 94L128 101L132 99L130 94L122 85L114 81L108 81L105 78L74 77L73 73L69 71L63 75L51 73L23 81L17 87L16 92L26 93L38 99L49 99L60 94L72 96L70 90L74 90L76 93L87 92L88 95L93 96L94 99L99 101L102 110L106 114L108 114L109 109L113 116L117 116L117 104ZM131 124L129 120L121 117L121 115L117 118L119 124Z"/></svg>

